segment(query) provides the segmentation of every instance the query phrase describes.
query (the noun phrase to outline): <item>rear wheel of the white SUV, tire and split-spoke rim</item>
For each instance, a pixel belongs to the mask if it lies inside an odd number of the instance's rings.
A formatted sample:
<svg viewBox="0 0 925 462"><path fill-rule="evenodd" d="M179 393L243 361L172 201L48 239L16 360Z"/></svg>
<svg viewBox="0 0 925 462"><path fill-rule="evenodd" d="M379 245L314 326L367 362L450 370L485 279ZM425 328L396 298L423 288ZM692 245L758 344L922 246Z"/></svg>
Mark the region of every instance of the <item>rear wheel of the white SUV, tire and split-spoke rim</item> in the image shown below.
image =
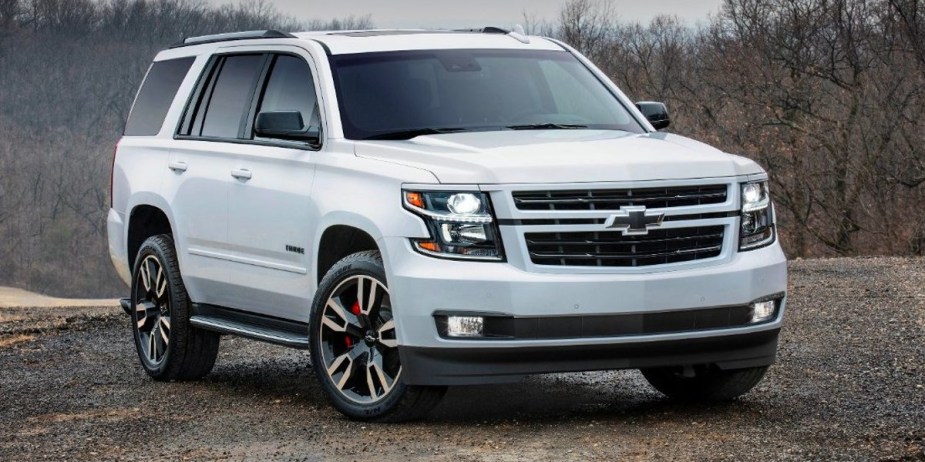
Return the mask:
<svg viewBox="0 0 925 462"><path fill-rule="evenodd" d="M189 323L191 305L170 235L148 238L132 270L132 334L154 380L198 379L212 370L220 336Z"/></svg>

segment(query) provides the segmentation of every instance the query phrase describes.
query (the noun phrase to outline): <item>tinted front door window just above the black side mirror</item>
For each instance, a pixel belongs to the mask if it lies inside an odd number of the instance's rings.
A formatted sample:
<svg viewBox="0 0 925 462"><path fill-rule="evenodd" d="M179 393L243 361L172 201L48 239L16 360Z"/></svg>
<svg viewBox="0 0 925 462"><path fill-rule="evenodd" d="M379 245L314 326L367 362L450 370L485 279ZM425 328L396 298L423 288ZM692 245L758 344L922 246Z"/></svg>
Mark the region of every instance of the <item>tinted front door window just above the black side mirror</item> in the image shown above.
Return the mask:
<svg viewBox="0 0 925 462"><path fill-rule="evenodd" d="M318 126L317 101L308 63L280 55L273 64L258 112L298 111L306 126Z"/></svg>

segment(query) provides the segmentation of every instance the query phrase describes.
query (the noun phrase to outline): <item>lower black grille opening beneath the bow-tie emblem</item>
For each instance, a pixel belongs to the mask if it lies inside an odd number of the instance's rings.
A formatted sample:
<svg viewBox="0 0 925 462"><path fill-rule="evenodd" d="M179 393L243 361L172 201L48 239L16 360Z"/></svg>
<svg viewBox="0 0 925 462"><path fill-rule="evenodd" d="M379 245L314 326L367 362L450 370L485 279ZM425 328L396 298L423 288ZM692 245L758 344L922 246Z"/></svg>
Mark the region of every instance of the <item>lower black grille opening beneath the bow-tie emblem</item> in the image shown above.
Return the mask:
<svg viewBox="0 0 925 462"><path fill-rule="evenodd" d="M619 231L526 233L530 260L552 266L651 266L719 256L724 226Z"/></svg>

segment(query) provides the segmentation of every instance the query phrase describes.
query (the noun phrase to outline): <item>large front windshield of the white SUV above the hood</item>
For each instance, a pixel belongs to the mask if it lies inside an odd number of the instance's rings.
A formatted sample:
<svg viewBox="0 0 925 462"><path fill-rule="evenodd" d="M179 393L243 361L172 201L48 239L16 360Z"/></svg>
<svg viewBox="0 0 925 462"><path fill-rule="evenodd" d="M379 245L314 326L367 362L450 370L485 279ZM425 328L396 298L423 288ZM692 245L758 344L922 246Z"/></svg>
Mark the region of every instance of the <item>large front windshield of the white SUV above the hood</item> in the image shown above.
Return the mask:
<svg viewBox="0 0 925 462"><path fill-rule="evenodd" d="M484 130L644 132L566 51L360 53L333 56L331 66L348 139Z"/></svg>

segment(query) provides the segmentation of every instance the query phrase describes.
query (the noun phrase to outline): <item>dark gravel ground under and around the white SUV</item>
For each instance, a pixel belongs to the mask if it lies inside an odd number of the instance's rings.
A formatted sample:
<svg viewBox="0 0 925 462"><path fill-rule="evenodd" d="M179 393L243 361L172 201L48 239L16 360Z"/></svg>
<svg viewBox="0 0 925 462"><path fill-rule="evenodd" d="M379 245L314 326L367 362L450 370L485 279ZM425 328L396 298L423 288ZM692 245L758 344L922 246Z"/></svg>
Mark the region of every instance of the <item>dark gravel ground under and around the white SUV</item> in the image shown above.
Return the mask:
<svg viewBox="0 0 925 462"><path fill-rule="evenodd" d="M303 352L225 337L206 380L155 383L118 308L0 308L0 460L925 461L923 282L923 259L793 262L778 363L731 404L545 375L400 425L343 418Z"/></svg>

